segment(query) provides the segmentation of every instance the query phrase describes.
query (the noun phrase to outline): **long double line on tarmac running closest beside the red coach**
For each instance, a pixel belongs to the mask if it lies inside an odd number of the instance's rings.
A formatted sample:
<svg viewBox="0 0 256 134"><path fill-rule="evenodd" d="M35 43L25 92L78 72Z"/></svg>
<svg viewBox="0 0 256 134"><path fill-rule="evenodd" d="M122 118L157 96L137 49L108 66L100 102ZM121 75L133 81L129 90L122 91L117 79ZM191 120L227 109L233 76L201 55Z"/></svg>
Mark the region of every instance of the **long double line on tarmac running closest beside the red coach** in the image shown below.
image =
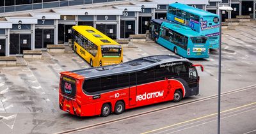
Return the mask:
<svg viewBox="0 0 256 134"><path fill-rule="evenodd" d="M252 89L252 88L255 88L255 87L256 87L256 84L253 84L251 86L241 87L241 88L238 88L238 89L234 89L232 91L227 91L225 93L221 93L221 96L246 91L246 90L249 90L249 89ZM76 132L76 131L88 130L90 128L95 128L95 127L106 125L106 124L117 123L117 122L120 122L120 121L125 121L127 119L133 119L133 118L140 117L140 116L143 116L143 115L148 115L148 114L153 114L153 113L156 113L156 112L161 112L163 110L168 110L168 109L172 109L172 108L191 105L193 103L198 103L198 102L201 102L201 101L211 100L211 99L214 99L214 98L218 98L218 94L215 94L215 95L212 95L212 96L207 96L207 97L204 97L204 98L199 98L199 99L184 102L184 103L179 103L179 104L172 105L172 106L167 106L167 107L163 107L163 108L157 108L157 109L154 109L154 110L149 110L147 112L142 112L140 114L128 115L128 116L125 116L125 117L120 117L118 119L113 119L113 120L105 121L105 122L102 122L102 123L96 123L96 124L92 124L92 125L88 125L88 126L83 126L81 128L74 128L72 130L60 131L60 132L56 132L55 134L72 133L72 132Z"/></svg>

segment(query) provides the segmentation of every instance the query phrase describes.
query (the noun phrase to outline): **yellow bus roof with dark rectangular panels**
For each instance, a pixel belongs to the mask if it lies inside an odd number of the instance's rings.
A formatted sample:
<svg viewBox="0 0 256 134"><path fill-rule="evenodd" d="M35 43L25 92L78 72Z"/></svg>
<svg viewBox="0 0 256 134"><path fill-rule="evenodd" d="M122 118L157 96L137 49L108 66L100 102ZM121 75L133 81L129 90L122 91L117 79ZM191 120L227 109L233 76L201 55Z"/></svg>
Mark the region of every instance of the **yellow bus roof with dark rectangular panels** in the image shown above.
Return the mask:
<svg viewBox="0 0 256 134"><path fill-rule="evenodd" d="M119 45L116 41L112 40L92 26L73 26L72 28L88 40L92 41L95 45Z"/></svg>

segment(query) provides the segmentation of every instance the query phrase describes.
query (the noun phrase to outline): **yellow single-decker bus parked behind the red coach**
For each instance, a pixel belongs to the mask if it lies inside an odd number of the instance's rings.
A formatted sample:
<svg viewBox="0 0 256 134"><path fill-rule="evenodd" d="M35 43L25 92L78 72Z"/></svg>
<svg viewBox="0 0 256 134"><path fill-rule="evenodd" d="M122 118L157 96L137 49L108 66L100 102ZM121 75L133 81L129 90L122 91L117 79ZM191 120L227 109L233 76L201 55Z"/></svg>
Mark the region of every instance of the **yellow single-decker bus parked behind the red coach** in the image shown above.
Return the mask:
<svg viewBox="0 0 256 134"><path fill-rule="evenodd" d="M72 48L91 66L123 62L122 46L91 26L72 27Z"/></svg>

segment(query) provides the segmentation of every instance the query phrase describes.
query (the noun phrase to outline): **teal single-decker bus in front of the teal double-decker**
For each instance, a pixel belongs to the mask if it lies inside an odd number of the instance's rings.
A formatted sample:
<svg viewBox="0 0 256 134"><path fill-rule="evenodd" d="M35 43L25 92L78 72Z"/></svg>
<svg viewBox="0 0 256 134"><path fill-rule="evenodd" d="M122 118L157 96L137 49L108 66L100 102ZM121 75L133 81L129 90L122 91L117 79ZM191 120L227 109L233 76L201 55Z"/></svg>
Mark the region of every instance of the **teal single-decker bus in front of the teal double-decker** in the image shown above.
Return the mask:
<svg viewBox="0 0 256 134"><path fill-rule="evenodd" d="M155 37L154 40L159 45L172 50L175 54L186 58L209 57L209 40L207 36L202 36L189 27L166 22L166 20L151 20L150 25L152 31L154 31L153 27L161 26L157 31L159 36L152 36Z"/></svg>

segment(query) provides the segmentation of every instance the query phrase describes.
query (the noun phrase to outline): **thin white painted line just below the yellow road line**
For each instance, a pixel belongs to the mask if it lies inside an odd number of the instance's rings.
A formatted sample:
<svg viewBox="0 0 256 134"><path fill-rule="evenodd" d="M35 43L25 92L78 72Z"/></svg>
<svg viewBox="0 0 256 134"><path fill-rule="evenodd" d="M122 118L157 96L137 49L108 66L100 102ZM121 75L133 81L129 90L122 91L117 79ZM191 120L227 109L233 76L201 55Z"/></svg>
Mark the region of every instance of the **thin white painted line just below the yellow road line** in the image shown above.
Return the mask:
<svg viewBox="0 0 256 134"><path fill-rule="evenodd" d="M254 108L254 107L256 107L256 105L255 105L255 106L252 106L252 107L246 107L246 108L242 108L242 109L239 109L239 110L236 110L236 111L228 112L227 114L221 114L221 116L223 117L224 115L233 114L233 113L240 112L240 111L244 111L244 110L246 110L246 109ZM198 124L198 123L202 123L202 122L204 122L204 121L210 121L211 119L216 119L216 117L217 117L217 116L210 117L210 118L207 118L207 119L204 119L204 120L201 120L201 121L196 121L196 122L189 123L189 124L184 124L184 125L182 125L182 126L177 126L177 127L175 127L175 128L170 128L170 129L168 129L168 130L159 131L159 132L157 132L157 133L167 133L166 131L177 130L177 129L179 129L179 128L184 128L184 127L189 126L189 125L192 125L192 124ZM221 118L221 119L222 119L222 118ZM192 126L192 127L193 127L193 126ZM192 128L192 127L188 127L188 128ZM185 128L185 129L186 129L186 128ZM154 134L157 134L157 133L154 133Z"/></svg>

